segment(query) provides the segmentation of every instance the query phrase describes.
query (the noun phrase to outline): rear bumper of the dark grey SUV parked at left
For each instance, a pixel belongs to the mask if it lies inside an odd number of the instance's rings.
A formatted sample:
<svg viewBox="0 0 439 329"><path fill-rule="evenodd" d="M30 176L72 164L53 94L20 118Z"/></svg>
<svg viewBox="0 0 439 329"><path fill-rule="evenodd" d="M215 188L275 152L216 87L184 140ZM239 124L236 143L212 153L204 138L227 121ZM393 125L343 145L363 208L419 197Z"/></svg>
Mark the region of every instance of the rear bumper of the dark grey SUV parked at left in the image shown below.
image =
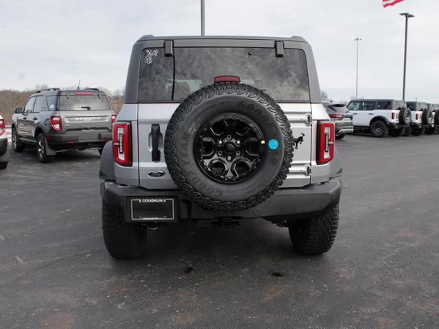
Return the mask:
<svg viewBox="0 0 439 329"><path fill-rule="evenodd" d="M75 149L79 147L104 147L111 141L111 132L84 132L81 134L47 134L52 149Z"/></svg>

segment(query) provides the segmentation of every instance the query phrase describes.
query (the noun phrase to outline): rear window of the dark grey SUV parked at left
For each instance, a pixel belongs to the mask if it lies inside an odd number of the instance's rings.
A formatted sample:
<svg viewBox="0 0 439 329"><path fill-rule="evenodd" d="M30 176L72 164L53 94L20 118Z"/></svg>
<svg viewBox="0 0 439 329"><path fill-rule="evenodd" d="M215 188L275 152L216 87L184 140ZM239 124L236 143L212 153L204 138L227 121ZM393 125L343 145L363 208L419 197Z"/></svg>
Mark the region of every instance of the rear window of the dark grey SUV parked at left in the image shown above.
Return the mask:
<svg viewBox="0 0 439 329"><path fill-rule="evenodd" d="M110 110L107 97L101 95L61 95L59 97L60 111ZM49 105L50 106L50 105Z"/></svg>

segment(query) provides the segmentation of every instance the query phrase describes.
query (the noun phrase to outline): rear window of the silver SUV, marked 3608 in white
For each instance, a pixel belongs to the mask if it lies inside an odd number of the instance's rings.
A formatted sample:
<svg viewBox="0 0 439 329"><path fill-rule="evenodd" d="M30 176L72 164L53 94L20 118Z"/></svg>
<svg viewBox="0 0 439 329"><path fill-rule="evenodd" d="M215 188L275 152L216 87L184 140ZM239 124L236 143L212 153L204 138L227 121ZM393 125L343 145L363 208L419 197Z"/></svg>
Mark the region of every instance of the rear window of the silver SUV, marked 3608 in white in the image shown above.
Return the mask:
<svg viewBox="0 0 439 329"><path fill-rule="evenodd" d="M182 101L219 75L238 76L276 101L310 99L300 49L285 49L283 57L273 48L177 47L174 56L165 56L161 48L144 49L139 73L139 101Z"/></svg>

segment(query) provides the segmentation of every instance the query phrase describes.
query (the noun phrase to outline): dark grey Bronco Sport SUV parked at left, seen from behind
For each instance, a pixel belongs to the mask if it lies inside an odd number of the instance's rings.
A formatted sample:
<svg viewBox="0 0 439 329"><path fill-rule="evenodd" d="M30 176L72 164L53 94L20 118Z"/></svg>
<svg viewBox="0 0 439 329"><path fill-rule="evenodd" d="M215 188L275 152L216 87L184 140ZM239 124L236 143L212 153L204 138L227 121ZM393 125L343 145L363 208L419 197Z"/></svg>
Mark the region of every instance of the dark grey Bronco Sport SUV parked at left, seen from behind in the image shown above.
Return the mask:
<svg viewBox="0 0 439 329"><path fill-rule="evenodd" d="M97 148L100 154L115 119L102 90L38 90L12 116L12 147L21 152L36 145L40 162L68 149Z"/></svg>

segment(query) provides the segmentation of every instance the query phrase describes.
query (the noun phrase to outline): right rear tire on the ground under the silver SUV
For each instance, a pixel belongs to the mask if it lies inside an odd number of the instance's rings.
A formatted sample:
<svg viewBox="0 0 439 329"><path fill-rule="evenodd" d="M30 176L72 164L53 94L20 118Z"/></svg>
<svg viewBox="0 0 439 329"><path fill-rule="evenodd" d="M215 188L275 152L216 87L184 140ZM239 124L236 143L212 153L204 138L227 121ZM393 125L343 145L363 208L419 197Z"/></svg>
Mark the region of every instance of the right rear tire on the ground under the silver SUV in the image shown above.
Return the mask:
<svg viewBox="0 0 439 329"><path fill-rule="evenodd" d="M331 249L337 235L338 204L322 217L296 221L288 226L289 237L300 254L317 255Z"/></svg>

